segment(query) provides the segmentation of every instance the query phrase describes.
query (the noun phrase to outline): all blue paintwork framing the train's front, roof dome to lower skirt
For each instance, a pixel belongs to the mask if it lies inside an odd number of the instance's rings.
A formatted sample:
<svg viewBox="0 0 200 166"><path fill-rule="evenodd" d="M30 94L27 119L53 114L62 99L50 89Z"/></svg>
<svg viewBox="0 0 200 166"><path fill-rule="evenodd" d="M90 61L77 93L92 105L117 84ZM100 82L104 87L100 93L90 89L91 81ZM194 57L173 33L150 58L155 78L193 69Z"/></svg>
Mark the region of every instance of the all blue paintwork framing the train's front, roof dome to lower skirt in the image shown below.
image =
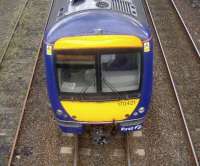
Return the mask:
<svg viewBox="0 0 200 166"><path fill-rule="evenodd" d="M54 55L46 54L47 44L53 45L53 43L66 36L74 35L95 35L94 29L103 29L103 34L120 34L120 35L134 35L140 37L142 40L149 40L151 37L150 29L146 25L141 25L136 20L130 17L119 15L112 12L84 12L73 17L66 17L58 22L51 29L46 30L45 42L43 48L43 54L45 56L45 67L46 67L46 77L47 77L47 87L50 103L54 114L58 120L65 122L73 122L74 120L67 115L65 112L63 116L56 115L56 110L64 110L58 98L58 85L56 82L56 71ZM136 108L136 111L140 107L145 107L145 112L143 114L138 114L134 116L133 114L128 118L128 120L134 120L139 118L144 118L148 112L148 107L152 95L152 80L153 80L153 42L150 40L151 51L144 53L143 57L143 78L142 78L142 92L141 100ZM67 110L66 110L67 111ZM141 124L142 125L142 124ZM83 126L80 128L63 127L59 126L63 132L81 133L83 132ZM132 128L131 128L132 127ZM132 131L136 130L134 126L127 127ZM121 126L119 125L119 130ZM125 130L123 132L126 132Z"/></svg>

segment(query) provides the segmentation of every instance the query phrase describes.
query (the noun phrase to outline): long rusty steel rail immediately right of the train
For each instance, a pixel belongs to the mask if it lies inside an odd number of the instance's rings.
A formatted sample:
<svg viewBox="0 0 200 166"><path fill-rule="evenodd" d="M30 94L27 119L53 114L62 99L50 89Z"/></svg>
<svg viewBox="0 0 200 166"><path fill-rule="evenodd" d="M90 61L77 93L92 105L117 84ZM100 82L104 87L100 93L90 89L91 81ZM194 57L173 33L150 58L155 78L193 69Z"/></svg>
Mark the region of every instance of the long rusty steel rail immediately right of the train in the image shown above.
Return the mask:
<svg viewBox="0 0 200 166"><path fill-rule="evenodd" d="M172 73L171 73L167 58L166 58L166 53L164 51L164 48L163 48L163 45L162 45L158 30L156 28L156 24L155 24L155 21L153 19L153 15L152 15L150 7L149 7L149 3L147 2L147 0L144 0L144 1L146 3L149 15L151 17L151 21L152 21L154 30L156 32L156 36L157 36L158 41L159 41L159 45L160 45L160 48L161 48L161 51L162 51L162 55L163 55L163 58L164 58L164 61L165 61L166 67L167 67L167 71L168 71L169 76L170 76L170 82L171 82L171 84L173 86L173 90L174 90L174 93L175 93L175 96L176 96L176 100L177 100L178 105L179 105L179 110L180 110L180 113L181 113L181 116L182 116L182 119L183 119L184 127L185 127L185 130L186 130L186 133L187 133L187 137L188 137L188 140L189 140L189 143L190 143L190 147L191 147L191 150L192 150L193 157L194 157L196 166L199 166L199 161L198 161L198 158L197 158L197 155L196 155L196 151L195 151L195 148L194 148L194 144L193 144L193 141L192 141L192 138L191 138L191 135L190 135L190 131L189 131L189 128L188 128L188 125L187 125L187 122L186 122L186 118L185 118L185 115L184 115L184 112L183 112L183 107L182 107L182 104L181 104L181 101L180 101L180 98L179 98L179 95L178 95L178 91L177 91L177 88L176 88L176 85L175 85L175 82L174 82L174 79L173 79L173 76L172 76Z"/></svg>

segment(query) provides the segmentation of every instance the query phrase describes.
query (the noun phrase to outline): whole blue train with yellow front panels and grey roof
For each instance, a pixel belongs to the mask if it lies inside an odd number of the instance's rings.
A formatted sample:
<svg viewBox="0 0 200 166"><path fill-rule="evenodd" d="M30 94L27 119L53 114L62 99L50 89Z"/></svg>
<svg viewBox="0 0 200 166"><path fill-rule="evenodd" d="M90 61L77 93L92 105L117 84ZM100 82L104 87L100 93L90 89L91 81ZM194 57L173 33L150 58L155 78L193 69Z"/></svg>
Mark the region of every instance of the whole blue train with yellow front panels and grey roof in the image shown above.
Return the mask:
<svg viewBox="0 0 200 166"><path fill-rule="evenodd" d="M152 95L153 42L139 0L53 2L44 50L50 103L60 129L142 128Z"/></svg>

